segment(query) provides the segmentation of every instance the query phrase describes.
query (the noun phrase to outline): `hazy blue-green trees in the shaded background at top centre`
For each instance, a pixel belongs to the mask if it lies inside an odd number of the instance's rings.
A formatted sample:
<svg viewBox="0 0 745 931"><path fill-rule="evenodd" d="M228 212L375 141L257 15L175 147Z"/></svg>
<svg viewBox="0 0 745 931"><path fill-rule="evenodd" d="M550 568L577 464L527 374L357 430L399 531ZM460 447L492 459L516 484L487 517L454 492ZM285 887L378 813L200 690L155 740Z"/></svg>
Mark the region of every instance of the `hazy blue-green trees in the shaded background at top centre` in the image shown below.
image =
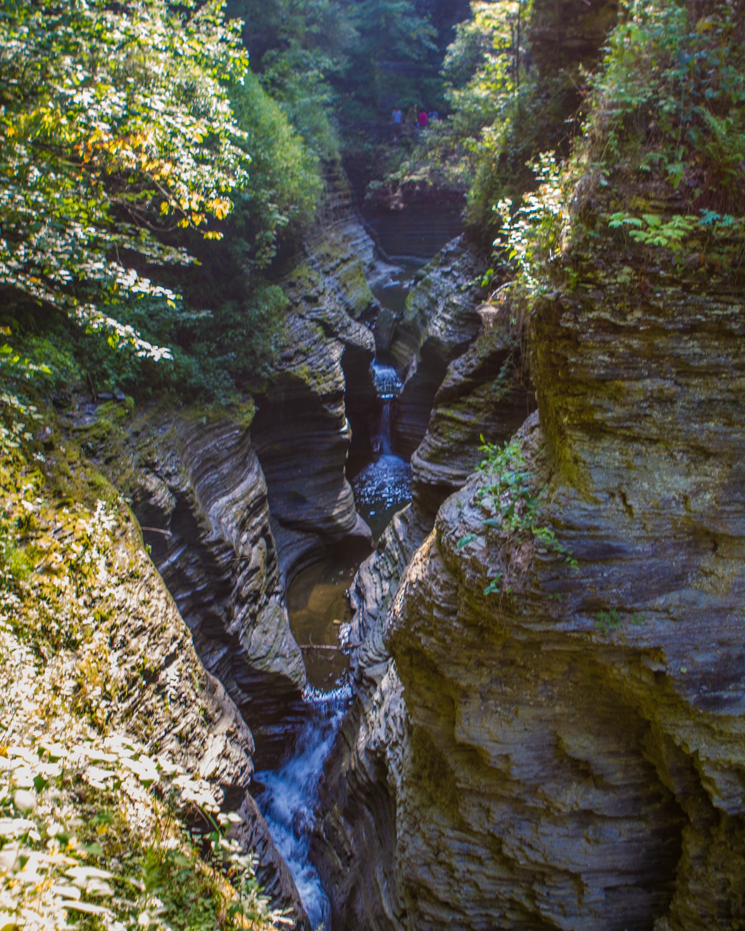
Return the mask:
<svg viewBox="0 0 745 931"><path fill-rule="evenodd" d="M322 158L338 157L332 116L441 108L437 32L412 0L231 0L254 70ZM348 141L347 141L348 142Z"/></svg>

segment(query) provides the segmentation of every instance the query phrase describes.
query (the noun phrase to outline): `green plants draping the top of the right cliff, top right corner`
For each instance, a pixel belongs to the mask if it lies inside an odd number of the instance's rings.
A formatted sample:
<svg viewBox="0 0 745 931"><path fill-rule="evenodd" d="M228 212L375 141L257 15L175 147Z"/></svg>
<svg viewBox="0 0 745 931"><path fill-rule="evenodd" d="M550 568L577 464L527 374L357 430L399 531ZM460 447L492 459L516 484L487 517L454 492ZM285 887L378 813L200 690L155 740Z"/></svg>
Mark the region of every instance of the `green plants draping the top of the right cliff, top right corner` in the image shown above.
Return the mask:
<svg viewBox="0 0 745 931"><path fill-rule="evenodd" d="M659 175L696 209L745 206L745 45L737 3L626 5L595 81L588 156ZM641 141L641 147L640 147Z"/></svg>

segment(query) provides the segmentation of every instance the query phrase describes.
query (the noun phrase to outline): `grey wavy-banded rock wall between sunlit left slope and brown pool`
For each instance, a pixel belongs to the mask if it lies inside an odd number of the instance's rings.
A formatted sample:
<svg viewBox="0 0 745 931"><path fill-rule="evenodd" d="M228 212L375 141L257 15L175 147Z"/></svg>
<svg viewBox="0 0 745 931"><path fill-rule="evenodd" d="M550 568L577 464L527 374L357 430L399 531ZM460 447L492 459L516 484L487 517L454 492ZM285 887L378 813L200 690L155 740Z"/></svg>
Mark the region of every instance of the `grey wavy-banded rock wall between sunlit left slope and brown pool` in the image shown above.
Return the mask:
<svg viewBox="0 0 745 931"><path fill-rule="evenodd" d="M102 455L132 496L197 653L251 723L264 762L281 753L281 708L300 708L305 666L251 447L252 414L250 404L234 412L132 415L120 424L129 442L112 448L110 429ZM91 429L106 423L111 427L100 409Z"/></svg>

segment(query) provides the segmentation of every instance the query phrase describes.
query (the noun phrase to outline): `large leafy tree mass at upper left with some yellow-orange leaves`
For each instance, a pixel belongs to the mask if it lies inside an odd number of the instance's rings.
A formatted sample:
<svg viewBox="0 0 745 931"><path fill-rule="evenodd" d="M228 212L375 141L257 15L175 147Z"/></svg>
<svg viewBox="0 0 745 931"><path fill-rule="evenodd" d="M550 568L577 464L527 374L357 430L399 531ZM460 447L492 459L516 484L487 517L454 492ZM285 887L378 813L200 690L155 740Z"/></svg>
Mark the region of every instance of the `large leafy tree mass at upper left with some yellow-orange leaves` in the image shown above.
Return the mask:
<svg viewBox="0 0 745 931"><path fill-rule="evenodd" d="M321 171L221 7L25 0L0 20L0 283L47 389L225 400L271 368L287 301L262 270L311 222Z"/></svg>

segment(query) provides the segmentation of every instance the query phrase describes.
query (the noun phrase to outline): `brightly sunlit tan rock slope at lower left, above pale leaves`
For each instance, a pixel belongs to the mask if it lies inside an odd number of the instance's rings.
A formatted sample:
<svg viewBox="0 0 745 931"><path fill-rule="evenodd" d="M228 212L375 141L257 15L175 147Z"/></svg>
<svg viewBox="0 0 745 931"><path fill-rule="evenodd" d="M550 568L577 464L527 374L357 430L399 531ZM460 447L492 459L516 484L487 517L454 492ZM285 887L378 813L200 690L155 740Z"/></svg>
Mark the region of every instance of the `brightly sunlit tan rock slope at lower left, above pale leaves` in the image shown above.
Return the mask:
<svg viewBox="0 0 745 931"><path fill-rule="evenodd" d="M309 931L291 874L251 797L251 731L199 661L176 604L137 546L133 527L128 535L129 546L119 555L126 581L115 589L116 609L102 631L110 647L97 662L101 672L105 656L112 681L136 687L128 690L129 700L112 705L109 725L126 728L154 751L167 751L187 772L223 790L224 808L243 817L235 833L243 849L258 857L257 875L266 894L290 910L292 926Z"/></svg>

